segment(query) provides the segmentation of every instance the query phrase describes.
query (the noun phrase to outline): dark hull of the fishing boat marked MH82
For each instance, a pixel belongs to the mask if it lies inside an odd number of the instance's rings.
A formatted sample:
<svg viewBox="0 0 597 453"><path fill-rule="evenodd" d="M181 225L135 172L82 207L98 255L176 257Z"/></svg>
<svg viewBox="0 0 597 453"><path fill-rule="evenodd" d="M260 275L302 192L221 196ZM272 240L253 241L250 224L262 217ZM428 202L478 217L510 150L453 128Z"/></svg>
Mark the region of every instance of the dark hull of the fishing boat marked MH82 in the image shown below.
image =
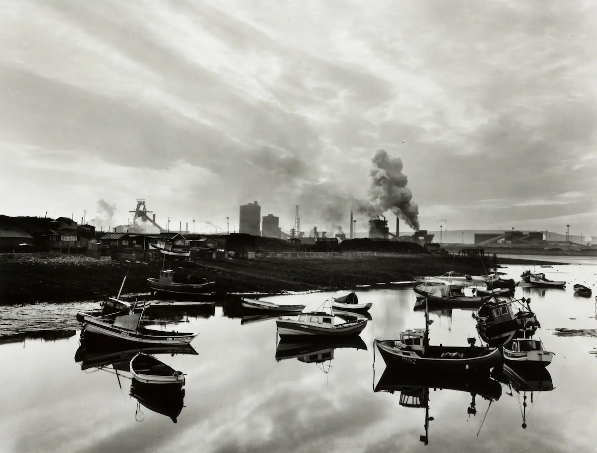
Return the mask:
<svg viewBox="0 0 597 453"><path fill-rule="evenodd" d="M394 346L394 340L375 340L386 366L429 371L489 371L501 363L497 348L429 346L434 353L420 356ZM442 355L444 355L442 357Z"/></svg>

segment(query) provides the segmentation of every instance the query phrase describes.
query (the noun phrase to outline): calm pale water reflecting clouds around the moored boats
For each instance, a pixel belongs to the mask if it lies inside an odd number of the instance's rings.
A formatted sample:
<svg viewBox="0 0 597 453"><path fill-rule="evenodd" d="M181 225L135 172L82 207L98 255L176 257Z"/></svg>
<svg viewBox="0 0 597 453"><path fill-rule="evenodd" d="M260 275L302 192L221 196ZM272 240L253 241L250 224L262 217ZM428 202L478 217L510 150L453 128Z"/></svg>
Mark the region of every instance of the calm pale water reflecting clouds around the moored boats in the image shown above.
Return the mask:
<svg viewBox="0 0 597 453"><path fill-rule="evenodd" d="M503 271L518 280L522 269ZM158 355L187 374L176 423L130 396L123 363L87 368L76 362L78 332L55 341L0 344L0 452L595 451L597 265L541 271L568 286L516 290L517 297L531 298L541 323L536 336L556 353L547 367L553 390L534 392L532 402L527 393L526 429L524 395L507 383L496 384L501 392L493 402L476 395L476 414L469 414L469 392L431 389L433 420L424 445L426 409L402 406L400 392L373 391L385 367L372 347L374 338L397 338L403 328L423 327L424 315L413 311L411 289L375 289L358 292L359 301L373 302L372 319L361 334L364 345L338 347L333 360L322 363L292 351L276 360L275 318L229 318L235 313L223 307L212 316L154 316L164 328L199 332L192 342L197 355ZM576 297L576 282L593 286L593 297ZM328 296L284 300L316 309ZM432 343L465 345L476 336L471 313L431 313ZM557 336L557 328L579 332ZM307 346L303 352L309 353ZM441 383L442 376L430 380Z"/></svg>

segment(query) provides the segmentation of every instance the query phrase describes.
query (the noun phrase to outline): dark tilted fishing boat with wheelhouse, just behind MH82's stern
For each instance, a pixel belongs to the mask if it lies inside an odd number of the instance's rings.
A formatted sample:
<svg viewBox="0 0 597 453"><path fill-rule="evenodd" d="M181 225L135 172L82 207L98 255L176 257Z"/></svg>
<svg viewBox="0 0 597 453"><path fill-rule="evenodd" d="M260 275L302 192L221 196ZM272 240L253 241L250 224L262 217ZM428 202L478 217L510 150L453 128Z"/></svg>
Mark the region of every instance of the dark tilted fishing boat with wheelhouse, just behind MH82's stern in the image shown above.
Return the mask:
<svg viewBox="0 0 597 453"><path fill-rule="evenodd" d="M476 330L488 344L500 345L518 331L511 301L488 300L475 313Z"/></svg>

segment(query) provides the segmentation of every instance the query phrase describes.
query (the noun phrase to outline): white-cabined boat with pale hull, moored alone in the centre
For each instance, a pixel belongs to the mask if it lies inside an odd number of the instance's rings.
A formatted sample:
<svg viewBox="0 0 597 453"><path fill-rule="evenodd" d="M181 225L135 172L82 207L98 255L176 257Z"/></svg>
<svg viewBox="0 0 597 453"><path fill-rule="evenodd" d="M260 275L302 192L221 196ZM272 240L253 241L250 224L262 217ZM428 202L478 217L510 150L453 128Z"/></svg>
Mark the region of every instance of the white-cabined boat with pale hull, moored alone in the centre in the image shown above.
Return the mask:
<svg viewBox="0 0 597 453"><path fill-rule="evenodd" d="M326 312L301 313L295 318L278 318L280 337L338 337L358 335L367 326L367 319L335 324L336 316Z"/></svg>

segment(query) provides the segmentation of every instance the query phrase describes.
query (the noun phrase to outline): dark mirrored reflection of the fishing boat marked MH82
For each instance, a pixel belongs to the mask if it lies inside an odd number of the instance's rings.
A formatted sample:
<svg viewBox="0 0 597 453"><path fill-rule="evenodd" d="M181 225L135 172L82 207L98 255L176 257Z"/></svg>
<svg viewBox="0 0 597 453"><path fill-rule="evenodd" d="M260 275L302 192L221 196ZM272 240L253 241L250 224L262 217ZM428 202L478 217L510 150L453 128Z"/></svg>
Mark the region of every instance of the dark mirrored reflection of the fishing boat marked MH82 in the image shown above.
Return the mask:
<svg viewBox="0 0 597 453"><path fill-rule="evenodd" d="M455 390L470 393L472 400L467 408L468 415L476 415L476 396L479 395L491 403L500 399L500 383L487 374L471 372L395 372L386 368L374 387L374 392L400 392L399 404L406 408L425 409L425 435L419 439L425 445L429 443L429 392L433 390ZM487 411L489 411L489 406ZM487 415L487 413L485 414ZM479 428L480 429L480 428Z"/></svg>

